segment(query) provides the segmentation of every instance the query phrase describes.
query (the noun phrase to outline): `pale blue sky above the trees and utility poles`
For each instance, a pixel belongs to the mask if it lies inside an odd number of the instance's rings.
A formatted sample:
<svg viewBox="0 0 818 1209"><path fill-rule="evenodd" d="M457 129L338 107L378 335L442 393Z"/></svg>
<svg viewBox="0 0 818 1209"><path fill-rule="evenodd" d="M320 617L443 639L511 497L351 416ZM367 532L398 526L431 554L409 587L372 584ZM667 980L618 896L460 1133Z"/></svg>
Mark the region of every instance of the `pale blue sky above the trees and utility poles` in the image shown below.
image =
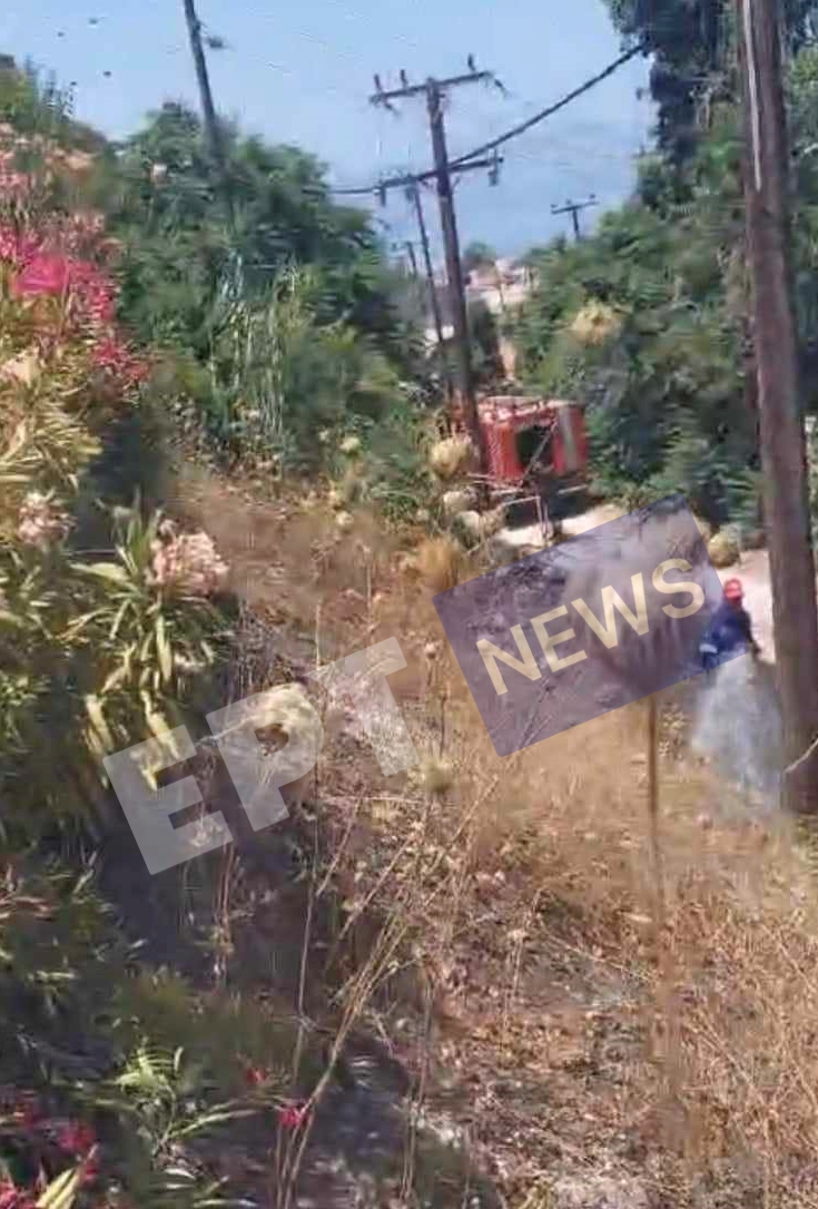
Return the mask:
<svg viewBox="0 0 818 1209"><path fill-rule="evenodd" d="M465 69L466 54L509 89L457 89L447 111L452 155L499 134L594 75L620 52L603 0L198 0L205 27L228 42L209 62L217 106L248 129L317 154L337 185L429 164L420 100L400 116L367 103L372 74L398 83ZM95 23L92 23L95 18ZM62 36L60 36L62 35ZM0 51L31 57L76 81L77 116L121 137L164 98L196 103L181 0L6 0ZM104 75L110 71L110 77ZM505 149L499 186L482 173L458 185L460 239L517 254L562 230L551 203L596 192L614 206L633 183L633 155L652 110L634 60ZM385 209L388 238L413 236L406 202ZM594 221L599 210L584 218ZM436 231L435 199L427 198Z"/></svg>

